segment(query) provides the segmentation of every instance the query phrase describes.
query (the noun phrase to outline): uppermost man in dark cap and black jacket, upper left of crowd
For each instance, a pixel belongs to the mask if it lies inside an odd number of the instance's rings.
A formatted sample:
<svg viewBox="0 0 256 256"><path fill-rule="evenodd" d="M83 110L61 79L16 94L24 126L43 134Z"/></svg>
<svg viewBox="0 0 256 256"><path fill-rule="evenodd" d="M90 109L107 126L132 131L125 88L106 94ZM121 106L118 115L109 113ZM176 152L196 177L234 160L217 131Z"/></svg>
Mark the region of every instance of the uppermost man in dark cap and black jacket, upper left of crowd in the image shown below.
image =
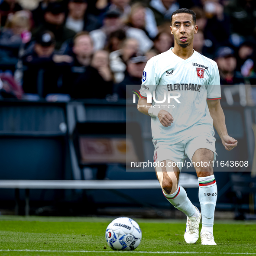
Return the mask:
<svg viewBox="0 0 256 256"><path fill-rule="evenodd" d="M44 23L36 28L33 35L36 36L38 33L50 30L55 35L55 49L60 49L63 42L69 38L75 36L75 32L68 29L65 25L65 9L61 3L52 2L49 3L45 9Z"/></svg>

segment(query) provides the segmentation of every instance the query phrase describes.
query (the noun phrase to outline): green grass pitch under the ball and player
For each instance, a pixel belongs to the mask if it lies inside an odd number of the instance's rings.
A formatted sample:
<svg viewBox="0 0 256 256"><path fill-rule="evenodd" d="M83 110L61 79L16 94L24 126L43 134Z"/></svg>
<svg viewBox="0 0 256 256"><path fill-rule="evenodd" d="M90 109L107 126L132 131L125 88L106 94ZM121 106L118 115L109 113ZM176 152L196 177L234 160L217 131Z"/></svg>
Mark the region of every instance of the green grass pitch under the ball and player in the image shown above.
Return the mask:
<svg viewBox="0 0 256 256"><path fill-rule="evenodd" d="M184 241L185 220L135 219L142 242L132 252L107 246L105 230L114 218L0 216L0 256L256 255L256 222L214 224L217 246Z"/></svg>

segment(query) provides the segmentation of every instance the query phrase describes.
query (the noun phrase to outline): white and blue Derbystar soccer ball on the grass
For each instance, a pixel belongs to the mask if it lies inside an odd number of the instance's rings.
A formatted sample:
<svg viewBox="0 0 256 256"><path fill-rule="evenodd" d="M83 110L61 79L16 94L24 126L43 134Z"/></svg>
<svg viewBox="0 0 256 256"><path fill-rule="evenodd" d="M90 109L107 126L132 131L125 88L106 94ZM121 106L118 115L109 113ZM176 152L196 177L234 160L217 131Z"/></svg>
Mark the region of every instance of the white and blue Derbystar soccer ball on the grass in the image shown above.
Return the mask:
<svg viewBox="0 0 256 256"><path fill-rule="evenodd" d="M135 250L141 241L141 229L133 219L120 217L107 226L106 240L113 250Z"/></svg>

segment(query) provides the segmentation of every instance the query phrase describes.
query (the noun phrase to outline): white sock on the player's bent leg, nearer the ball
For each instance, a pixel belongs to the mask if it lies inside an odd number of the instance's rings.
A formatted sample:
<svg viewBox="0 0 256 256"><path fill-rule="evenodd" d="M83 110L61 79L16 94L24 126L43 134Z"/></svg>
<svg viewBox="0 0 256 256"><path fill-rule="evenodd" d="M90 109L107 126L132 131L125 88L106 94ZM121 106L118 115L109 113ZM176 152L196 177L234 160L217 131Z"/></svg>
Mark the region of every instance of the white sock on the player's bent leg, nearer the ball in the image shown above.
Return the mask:
<svg viewBox="0 0 256 256"><path fill-rule="evenodd" d="M173 194L165 194L167 200L178 210L184 212L188 217L195 214L196 210L194 205L188 199L187 193L184 188L178 185L177 190Z"/></svg>

